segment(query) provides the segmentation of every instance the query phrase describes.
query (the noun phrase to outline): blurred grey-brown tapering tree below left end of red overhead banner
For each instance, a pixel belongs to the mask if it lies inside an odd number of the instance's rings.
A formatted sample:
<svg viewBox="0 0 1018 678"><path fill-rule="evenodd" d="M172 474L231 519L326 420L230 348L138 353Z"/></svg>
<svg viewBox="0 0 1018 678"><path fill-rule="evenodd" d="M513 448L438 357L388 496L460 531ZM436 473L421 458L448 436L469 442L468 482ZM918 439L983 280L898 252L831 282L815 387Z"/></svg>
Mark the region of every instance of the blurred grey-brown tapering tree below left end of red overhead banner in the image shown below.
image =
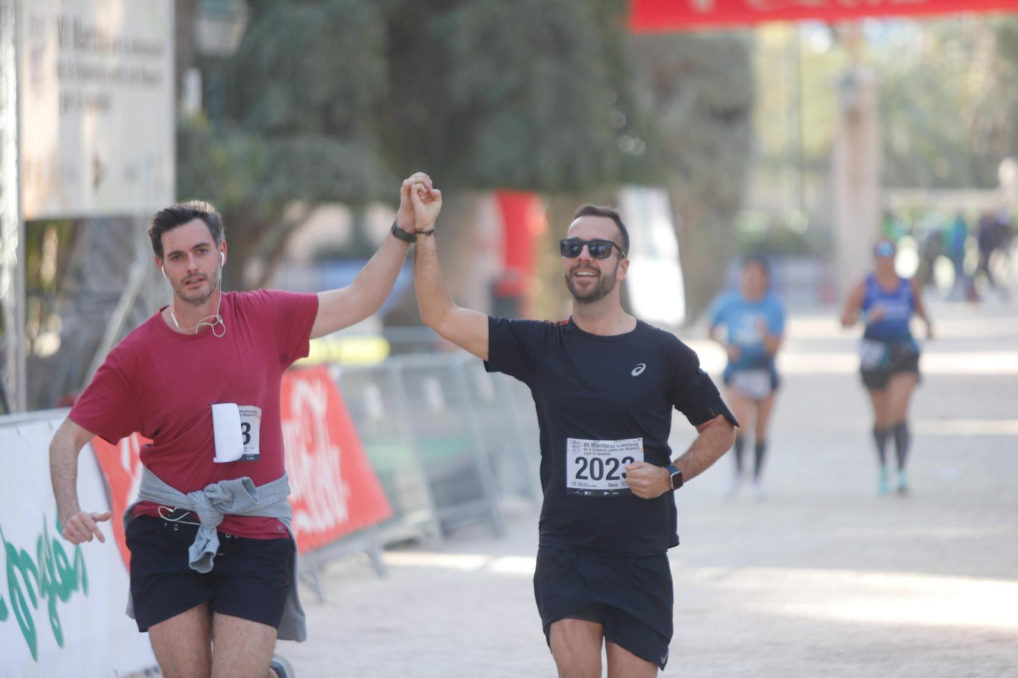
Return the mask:
<svg viewBox="0 0 1018 678"><path fill-rule="evenodd" d="M752 158L754 81L745 36L635 40L638 77L658 122L692 321L721 288Z"/></svg>

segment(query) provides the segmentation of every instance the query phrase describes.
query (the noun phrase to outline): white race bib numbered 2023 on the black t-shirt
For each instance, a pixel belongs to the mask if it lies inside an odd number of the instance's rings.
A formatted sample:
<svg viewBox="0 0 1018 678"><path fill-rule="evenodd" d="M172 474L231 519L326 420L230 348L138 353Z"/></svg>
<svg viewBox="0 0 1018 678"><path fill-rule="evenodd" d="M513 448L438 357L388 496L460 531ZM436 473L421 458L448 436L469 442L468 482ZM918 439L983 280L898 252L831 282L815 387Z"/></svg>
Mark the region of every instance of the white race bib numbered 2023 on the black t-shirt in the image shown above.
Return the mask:
<svg viewBox="0 0 1018 678"><path fill-rule="evenodd" d="M586 497L628 495L626 466L643 461L643 439L566 439L566 493Z"/></svg>

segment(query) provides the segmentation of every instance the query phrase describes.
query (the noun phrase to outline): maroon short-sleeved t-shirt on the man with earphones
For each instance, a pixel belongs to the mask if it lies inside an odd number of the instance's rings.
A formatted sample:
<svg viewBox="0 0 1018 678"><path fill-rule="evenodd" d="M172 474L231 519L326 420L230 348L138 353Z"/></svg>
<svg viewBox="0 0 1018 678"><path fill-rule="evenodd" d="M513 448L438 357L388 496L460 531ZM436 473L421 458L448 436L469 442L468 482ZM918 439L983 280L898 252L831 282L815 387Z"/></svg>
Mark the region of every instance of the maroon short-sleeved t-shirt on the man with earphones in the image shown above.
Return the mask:
<svg viewBox="0 0 1018 678"><path fill-rule="evenodd" d="M70 412L75 423L114 445L135 432L152 439L142 448L142 464L182 493L244 475L260 486L283 474L280 384L286 368L307 355L318 296L225 292L219 313L222 337L209 328L179 334L161 314L150 318L110 351ZM257 461L213 461L215 403L262 409ZM142 503L134 514L158 515L158 506ZM227 515L218 529L289 536L274 518Z"/></svg>

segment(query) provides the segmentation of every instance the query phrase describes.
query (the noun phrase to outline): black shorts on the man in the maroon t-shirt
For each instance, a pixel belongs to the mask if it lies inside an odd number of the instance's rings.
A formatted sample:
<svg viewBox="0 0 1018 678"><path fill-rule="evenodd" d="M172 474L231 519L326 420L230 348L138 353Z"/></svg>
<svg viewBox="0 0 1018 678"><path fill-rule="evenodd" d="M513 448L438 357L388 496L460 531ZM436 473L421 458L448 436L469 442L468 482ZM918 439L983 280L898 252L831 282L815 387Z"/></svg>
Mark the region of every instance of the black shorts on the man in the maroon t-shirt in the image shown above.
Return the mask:
<svg viewBox="0 0 1018 678"><path fill-rule="evenodd" d="M290 592L293 540L219 532L212 571L187 565L197 525L137 516L127 525L130 592L137 630L208 602L213 612L279 628Z"/></svg>

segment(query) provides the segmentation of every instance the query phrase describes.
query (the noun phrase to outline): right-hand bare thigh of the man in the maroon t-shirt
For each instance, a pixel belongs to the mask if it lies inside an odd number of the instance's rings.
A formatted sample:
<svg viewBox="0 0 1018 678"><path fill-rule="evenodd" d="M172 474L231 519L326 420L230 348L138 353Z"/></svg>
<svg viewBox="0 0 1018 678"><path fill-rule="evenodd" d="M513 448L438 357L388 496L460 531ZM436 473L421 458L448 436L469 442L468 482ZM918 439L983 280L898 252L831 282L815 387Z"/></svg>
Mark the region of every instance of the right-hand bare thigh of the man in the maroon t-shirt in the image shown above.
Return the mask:
<svg viewBox="0 0 1018 678"><path fill-rule="evenodd" d="M269 670L276 629L240 617L216 614L212 622L212 678L276 678Z"/></svg>

